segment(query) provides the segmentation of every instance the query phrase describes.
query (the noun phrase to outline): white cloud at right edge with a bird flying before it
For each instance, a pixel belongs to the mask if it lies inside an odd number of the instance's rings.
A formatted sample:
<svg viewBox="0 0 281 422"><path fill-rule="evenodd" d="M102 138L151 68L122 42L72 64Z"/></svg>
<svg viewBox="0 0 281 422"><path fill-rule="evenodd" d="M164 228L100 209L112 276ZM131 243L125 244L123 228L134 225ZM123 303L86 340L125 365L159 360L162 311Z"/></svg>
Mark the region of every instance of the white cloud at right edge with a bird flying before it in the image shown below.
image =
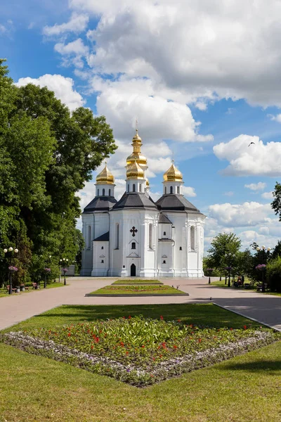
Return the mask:
<svg viewBox="0 0 281 422"><path fill-rule="evenodd" d="M249 144L254 142L253 145ZM240 135L227 143L218 143L213 148L220 160L230 163L223 174L232 176L281 175L281 143L263 143L259 136Z"/></svg>

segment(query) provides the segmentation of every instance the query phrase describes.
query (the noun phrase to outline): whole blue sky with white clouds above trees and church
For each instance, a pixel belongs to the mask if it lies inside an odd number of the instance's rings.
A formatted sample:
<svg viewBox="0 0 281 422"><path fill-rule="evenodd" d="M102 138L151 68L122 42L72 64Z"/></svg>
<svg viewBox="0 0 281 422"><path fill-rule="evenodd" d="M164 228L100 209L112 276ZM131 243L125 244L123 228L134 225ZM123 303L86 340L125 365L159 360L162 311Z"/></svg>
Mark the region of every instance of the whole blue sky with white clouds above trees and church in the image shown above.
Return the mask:
<svg viewBox="0 0 281 422"><path fill-rule="evenodd" d="M107 117L119 146L108 162L117 196L138 117L154 198L174 151L185 196L208 217L206 248L221 231L235 231L244 248L273 247L281 236L270 208L281 173L281 6L244 3L1 2L1 57L19 85L46 85L72 110ZM93 182L79 196L83 207Z"/></svg>

